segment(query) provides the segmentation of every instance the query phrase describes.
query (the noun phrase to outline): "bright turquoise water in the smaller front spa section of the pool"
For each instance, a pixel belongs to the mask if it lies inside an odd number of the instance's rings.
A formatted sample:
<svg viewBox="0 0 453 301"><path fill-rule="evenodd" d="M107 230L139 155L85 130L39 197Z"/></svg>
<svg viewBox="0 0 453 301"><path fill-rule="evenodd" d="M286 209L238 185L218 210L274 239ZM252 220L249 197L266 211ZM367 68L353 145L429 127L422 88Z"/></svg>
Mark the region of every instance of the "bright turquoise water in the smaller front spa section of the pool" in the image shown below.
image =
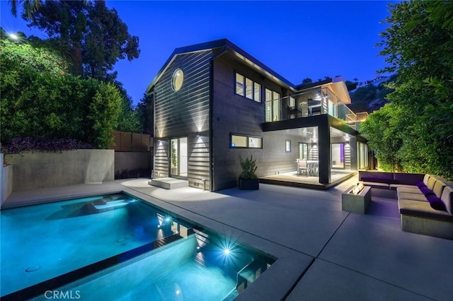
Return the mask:
<svg viewBox="0 0 453 301"><path fill-rule="evenodd" d="M222 300L236 291L236 278L231 278L229 271L218 266L202 266L193 260L195 235L172 244L59 290L79 292L82 300L207 301Z"/></svg>

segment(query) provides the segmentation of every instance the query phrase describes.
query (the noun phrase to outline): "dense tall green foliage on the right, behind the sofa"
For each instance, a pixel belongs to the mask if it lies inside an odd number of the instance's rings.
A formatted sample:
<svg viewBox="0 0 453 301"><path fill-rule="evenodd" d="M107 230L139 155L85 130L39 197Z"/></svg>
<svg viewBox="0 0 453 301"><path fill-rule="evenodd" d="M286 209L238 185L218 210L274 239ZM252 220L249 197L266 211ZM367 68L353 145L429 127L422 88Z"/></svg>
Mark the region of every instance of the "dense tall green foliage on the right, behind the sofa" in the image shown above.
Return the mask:
<svg viewBox="0 0 453 301"><path fill-rule="evenodd" d="M453 1L403 1L390 8L379 46L389 63L383 71L398 73L387 95L398 164L453 179ZM379 132L362 130L369 141L379 141Z"/></svg>

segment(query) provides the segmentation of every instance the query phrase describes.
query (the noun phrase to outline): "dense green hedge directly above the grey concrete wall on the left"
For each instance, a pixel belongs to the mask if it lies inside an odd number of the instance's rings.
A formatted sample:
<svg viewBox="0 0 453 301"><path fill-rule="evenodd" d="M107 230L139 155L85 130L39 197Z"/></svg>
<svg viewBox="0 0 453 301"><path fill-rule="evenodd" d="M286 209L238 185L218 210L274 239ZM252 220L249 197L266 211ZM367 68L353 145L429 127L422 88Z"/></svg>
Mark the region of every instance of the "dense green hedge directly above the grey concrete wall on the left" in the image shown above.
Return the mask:
<svg viewBox="0 0 453 301"><path fill-rule="evenodd" d="M106 148L121 95L112 84L67 73L48 49L0 41L1 143L11 138L73 138Z"/></svg>

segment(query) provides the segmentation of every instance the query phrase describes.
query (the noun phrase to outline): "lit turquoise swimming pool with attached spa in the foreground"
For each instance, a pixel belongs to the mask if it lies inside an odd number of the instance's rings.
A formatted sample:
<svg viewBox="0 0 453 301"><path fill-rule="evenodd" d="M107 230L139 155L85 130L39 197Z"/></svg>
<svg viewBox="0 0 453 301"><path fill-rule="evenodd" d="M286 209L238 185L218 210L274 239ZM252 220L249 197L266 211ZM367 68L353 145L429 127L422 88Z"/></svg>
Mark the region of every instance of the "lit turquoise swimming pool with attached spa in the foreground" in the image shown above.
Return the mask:
<svg viewBox="0 0 453 301"><path fill-rule="evenodd" d="M5 300L222 300L274 261L127 194L0 214Z"/></svg>

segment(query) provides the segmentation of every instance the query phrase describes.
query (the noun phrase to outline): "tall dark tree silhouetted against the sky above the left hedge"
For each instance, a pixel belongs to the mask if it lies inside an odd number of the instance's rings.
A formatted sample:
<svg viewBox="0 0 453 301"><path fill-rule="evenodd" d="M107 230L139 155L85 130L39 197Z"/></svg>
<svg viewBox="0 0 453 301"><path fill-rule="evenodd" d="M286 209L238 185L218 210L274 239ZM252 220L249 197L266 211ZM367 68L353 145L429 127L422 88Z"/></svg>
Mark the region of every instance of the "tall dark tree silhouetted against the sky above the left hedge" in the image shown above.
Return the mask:
<svg viewBox="0 0 453 301"><path fill-rule="evenodd" d="M23 18L66 47L75 74L114 80L111 71L118 60L139 57L138 37L130 35L117 11L104 1L45 1Z"/></svg>

